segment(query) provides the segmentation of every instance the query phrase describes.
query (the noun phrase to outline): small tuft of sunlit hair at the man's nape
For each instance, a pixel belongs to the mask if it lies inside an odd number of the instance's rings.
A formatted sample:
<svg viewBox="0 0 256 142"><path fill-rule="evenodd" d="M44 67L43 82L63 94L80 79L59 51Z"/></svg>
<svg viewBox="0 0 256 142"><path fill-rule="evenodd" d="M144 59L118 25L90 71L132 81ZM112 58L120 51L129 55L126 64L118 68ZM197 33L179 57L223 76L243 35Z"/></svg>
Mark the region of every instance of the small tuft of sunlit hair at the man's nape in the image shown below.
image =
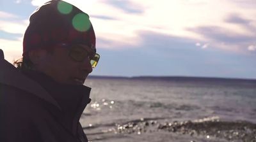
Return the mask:
<svg viewBox="0 0 256 142"><path fill-rule="evenodd" d="M17 67L20 71L28 71L33 69L34 64L31 62L29 57L22 57L13 62L13 66Z"/></svg>

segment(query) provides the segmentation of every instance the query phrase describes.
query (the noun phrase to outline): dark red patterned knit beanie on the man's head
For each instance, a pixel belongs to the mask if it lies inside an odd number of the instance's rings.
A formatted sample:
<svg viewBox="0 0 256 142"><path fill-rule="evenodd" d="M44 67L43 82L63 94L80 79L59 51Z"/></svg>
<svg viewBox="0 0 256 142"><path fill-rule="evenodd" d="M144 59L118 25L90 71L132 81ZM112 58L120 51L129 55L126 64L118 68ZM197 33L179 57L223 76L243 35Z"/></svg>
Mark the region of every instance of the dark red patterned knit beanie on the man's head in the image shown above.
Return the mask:
<svg viewBox="0 0 256 142"><path fill-rule="evenodd" d="M70 3L52 0L30 16L22 55L60 43L87 45L96 52L95 33L89 16Z"/></svg>

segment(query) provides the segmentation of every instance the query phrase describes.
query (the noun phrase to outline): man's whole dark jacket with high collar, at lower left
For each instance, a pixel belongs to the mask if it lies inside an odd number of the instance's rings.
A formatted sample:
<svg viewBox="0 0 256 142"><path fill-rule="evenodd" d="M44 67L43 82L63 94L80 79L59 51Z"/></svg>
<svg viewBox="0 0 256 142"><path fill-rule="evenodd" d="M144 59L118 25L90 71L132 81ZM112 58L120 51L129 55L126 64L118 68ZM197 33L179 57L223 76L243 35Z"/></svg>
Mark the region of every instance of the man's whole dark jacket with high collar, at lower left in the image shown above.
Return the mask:
<svg viewBox="0 0 256 142"><path fill-rule="evenodd" d="M88 141L79 123L90 88L21 72L0 54L0 141Z"/></svg>

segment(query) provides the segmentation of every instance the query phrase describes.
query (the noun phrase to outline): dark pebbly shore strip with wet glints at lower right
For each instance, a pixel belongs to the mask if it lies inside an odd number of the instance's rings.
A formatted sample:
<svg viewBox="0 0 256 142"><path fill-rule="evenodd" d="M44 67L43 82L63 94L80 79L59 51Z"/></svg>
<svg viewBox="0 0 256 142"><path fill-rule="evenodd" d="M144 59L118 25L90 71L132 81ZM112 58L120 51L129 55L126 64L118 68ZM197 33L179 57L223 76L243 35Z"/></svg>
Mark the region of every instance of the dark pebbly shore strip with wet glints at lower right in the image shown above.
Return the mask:
<svg viewBox="0 0 256 142"><path fill-rule="evenodd" d="M158 122L141 118L125 124L116 124L108 132L116 134L143 134L148 132L166 131L191 138L203 136L209 138L227 139L227 141L256 142L256 124L250 122L222 122L218 117L204 118L184 122ZM191 140L191 142L195 142Z"/></svg>

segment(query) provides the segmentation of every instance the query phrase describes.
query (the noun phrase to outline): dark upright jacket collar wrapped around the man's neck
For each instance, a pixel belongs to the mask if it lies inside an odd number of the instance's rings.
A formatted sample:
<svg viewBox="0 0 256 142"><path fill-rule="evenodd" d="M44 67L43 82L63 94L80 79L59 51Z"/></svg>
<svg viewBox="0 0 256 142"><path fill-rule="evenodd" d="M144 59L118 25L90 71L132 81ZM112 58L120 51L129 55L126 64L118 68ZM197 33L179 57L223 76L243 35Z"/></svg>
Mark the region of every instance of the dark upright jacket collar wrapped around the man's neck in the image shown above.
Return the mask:
<svg viewBox="0 0 256 142"><path fill-rule="evenodd" d="M68 85L55 82L51 77L37 71L26 71L24 75L40 83L54 97L62 109L58 116L60 122L73 134L76 134L77 124L84 108L90 103L90 87L84 85Z"/></svg>

